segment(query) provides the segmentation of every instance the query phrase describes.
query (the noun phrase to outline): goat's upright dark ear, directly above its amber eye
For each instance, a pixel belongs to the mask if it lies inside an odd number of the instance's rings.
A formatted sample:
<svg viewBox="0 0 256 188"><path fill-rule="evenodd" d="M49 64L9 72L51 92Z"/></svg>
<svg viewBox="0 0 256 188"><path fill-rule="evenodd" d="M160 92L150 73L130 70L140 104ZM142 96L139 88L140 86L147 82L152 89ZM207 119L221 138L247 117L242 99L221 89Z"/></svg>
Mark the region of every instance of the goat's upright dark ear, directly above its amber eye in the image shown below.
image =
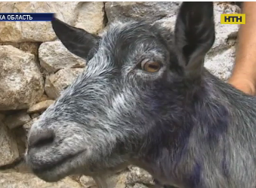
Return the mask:
<svg viewBox="0 0 256 188"><path fill-rule="evenodd" d="M213 2L183 2L174 35L185 73L200 75L205 55L215 40Z"/></svg>

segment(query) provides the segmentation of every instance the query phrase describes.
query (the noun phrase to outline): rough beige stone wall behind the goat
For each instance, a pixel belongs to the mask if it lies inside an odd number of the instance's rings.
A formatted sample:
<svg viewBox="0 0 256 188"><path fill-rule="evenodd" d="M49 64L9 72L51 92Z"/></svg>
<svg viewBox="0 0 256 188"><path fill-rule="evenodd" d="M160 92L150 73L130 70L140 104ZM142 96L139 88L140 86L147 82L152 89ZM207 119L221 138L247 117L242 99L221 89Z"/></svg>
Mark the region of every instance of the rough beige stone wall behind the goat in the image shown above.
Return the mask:
<svg viewBox="0 0 256 188"><path fill-rule="evenodd" d="M174 29L180 2L0 2L0 12L54 12L60 20L100 34L114 20L161 23ZM221 25L225 10L239 12L236 5L215 2L216 41L205 67L227 80L233 68L238 26ZM49 22L0 22L0 165L12 162L26 148L26 133L33 121L51 105L60 91L86 66L57 40ZM116 187L147 188L149 174L131 166L116 177ZM67 177L45 183L20 166L0 172L0 187L95 187L91 178Z"/></svg>

